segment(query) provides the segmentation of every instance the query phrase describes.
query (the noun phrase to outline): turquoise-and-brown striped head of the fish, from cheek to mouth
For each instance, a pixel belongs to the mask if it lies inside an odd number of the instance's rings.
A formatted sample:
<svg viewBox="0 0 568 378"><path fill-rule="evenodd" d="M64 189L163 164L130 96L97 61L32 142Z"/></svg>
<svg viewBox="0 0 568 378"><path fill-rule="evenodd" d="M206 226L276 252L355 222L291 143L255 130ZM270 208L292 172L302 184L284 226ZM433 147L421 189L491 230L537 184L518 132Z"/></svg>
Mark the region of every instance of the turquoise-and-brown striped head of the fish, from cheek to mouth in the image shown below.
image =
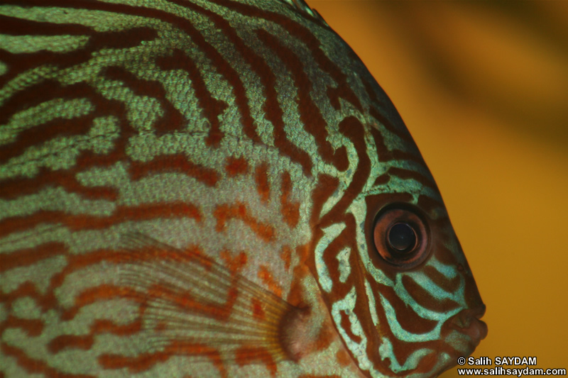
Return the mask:
<svg viewBox="0 0 568 378"><path fill-rule="evenodd" d="M345 196L358 172L364 171L365 184L344 218L320 225L326 227L318 245L329 247L315 248L315 265L326 265L320 270L332 284L322 285L324 301L364 374L435 377L486 337L479 320L485 305L430 170L371 80L380 101L366 122L354 121L365 135L364 152L346 189L338 191ZM340 131L355 135L354 129ZM344 226L334 231L339 223Z"/></svg>

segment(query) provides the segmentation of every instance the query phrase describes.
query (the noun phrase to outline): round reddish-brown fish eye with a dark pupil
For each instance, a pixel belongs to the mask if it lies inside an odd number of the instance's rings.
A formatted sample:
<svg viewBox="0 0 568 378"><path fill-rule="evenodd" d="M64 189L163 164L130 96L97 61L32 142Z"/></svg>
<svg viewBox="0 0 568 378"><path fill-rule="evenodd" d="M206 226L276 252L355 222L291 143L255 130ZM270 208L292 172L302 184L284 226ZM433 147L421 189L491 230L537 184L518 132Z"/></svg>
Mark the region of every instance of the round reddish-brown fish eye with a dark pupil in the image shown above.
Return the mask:
<svg viewBox="0 0 568 378"><path fill-rule="evenodd" d="M427 257L428 233L417 211L389 206L376 217L373 239L375 248L386 262L410 269Z"/></svg>

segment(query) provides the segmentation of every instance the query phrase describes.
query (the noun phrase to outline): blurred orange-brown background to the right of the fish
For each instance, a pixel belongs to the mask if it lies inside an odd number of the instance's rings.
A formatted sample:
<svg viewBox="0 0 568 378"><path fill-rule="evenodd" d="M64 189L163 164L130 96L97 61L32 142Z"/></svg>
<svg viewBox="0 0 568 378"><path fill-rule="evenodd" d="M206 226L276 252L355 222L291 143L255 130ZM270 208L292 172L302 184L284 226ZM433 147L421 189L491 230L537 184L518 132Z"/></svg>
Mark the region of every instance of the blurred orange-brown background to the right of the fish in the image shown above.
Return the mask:
<svg viewBox="0 0 568 378"><path fill-rule="evenodd" d="M442 191L487 305L474 357L568 369L568 1L307 1Z"/></svg>

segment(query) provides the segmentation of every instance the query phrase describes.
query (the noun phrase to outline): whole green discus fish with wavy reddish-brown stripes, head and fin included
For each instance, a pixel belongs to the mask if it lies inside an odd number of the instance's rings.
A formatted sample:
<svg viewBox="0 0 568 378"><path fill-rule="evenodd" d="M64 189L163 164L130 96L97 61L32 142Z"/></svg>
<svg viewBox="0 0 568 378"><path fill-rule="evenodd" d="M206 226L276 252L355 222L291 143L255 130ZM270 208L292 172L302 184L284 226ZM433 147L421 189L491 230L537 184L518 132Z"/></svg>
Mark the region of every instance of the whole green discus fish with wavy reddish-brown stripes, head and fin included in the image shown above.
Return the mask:
<svg viewBox="0 0 568 378"><path fill-rule="evenodd" d="M432 377L486 335L425 162L301 1L0 5L6 377Z"/></svg>

